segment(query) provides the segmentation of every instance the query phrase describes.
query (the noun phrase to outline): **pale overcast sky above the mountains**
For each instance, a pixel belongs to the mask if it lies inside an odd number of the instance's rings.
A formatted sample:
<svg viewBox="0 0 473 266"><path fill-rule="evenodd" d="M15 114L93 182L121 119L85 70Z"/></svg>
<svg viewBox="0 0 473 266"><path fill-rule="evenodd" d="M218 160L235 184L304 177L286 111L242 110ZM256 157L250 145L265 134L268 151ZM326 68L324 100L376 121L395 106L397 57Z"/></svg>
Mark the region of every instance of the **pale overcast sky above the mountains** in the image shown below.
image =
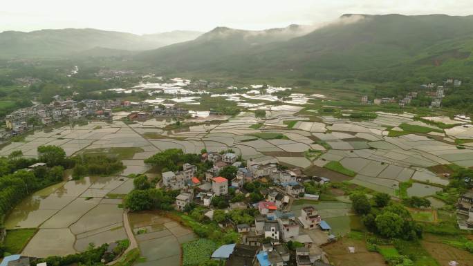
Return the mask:
<svg viewBox="0 0 473 266"><path fill-rule="evenodd" d="M0 31L98 28L137 34L262 30L332 21L344 13L473 15L473 0L3 0Z"/></svg>

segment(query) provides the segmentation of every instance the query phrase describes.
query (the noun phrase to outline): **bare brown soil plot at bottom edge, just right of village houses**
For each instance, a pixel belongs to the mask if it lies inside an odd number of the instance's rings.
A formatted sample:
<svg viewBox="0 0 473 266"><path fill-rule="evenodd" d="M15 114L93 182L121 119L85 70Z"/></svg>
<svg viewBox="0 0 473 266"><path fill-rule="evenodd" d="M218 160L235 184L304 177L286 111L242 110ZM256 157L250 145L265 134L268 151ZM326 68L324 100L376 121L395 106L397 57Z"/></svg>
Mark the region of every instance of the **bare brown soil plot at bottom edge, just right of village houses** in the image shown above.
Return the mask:
<svg viewBox="0 0 473 266"><path fill-rule="evenodd" d="M349 253L348 247L355 247L355 253ZM378 253L369 252L364 241L342 238L335 243L322 247L328 260L335 266L384 266L384 258Z"/></svg>

